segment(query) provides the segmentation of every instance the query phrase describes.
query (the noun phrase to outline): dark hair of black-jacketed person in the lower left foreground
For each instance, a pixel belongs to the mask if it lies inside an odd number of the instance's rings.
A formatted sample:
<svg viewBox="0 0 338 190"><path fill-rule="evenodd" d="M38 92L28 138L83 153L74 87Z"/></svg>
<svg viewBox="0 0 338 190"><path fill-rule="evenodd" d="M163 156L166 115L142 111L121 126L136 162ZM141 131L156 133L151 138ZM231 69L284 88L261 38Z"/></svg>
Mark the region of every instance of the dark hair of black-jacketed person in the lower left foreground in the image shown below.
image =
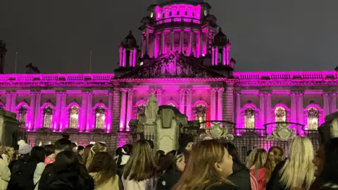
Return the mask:
<svg viewBox="0 0 338 190"><path fill-rule="evenodd" d="M63 172L80 172L80 160L75 152L66 150L58 153L53 163L56 174Z"/></svg>

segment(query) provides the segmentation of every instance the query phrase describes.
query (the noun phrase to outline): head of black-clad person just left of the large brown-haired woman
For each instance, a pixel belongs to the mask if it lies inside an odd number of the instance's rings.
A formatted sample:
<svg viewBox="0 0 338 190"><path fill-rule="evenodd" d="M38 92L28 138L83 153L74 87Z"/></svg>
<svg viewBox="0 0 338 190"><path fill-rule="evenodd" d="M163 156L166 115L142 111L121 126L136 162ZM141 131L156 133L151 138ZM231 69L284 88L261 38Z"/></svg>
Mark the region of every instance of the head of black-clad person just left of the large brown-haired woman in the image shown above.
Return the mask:
<svg viewBox="0 0 338 190"><path fill-rule="evenodd" d="M161 162L161 171L173 171L178 170L183 172L183 168L177 167L177 162L182 162L184 164L184 154L180 151L170 151L165 156L163 156L163 161ZM184 165L185 166L185 165Z"/></svg>

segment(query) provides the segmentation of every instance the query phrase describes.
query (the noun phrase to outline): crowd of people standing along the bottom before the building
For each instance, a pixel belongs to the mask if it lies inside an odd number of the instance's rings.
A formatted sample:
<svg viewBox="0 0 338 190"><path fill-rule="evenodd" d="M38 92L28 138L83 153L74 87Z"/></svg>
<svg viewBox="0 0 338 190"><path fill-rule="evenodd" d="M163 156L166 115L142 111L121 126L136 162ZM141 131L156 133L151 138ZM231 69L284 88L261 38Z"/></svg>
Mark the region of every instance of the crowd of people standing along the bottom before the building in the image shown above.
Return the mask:
<svg viewBox="0 0 338 190"><path fill-rule="evenodd" d="M314 153L310 139L295 137L287 158L278 146L254 148L246 163L227 141L182 134L179 144L153 153L142 139L111 155L104 143L77 146L67 135L44 147L19 141L18 151L1 146L0 190L338 189L338 138Z"/></svg>

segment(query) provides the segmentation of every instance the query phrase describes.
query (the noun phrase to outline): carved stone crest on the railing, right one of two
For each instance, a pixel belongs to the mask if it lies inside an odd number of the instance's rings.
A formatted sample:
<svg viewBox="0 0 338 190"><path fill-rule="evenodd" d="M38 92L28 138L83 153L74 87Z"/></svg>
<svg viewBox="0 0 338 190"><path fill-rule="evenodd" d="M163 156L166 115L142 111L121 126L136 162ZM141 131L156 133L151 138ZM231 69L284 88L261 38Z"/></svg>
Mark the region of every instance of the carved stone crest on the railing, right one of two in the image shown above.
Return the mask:
<svg viewBox="0 0 338 190"><path fill-rule="evenodd" d="M273 134L268 138L272 138L280 141L289 141L294 138L296 131L294 129L290 129L288 123L278 123L275 129L273 130Z"/></svg>

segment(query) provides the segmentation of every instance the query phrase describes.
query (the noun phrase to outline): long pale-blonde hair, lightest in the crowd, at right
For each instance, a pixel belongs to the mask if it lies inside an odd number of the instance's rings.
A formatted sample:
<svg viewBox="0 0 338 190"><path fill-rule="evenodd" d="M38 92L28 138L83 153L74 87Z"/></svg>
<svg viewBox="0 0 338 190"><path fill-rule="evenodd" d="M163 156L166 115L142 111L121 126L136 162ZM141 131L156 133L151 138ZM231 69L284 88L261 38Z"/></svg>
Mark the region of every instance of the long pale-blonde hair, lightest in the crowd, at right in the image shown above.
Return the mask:
<svg viewBox="0 0 338 190"><path fill-rule="evenodd" d="M308 137L296 137L289 149L289 158L280 170L280 182L287 189L310 189L313 183L315 165L313 145Z"/></svg>

